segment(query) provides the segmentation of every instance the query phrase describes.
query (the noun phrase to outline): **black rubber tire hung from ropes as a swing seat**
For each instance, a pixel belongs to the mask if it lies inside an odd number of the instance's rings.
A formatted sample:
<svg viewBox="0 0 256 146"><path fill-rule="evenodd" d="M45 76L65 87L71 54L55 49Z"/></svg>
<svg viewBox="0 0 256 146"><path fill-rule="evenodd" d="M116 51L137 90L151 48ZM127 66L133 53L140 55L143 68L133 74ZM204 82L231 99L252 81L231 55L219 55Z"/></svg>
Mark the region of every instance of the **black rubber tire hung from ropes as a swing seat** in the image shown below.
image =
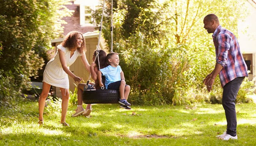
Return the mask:
<svg viewBox="0 0 256 146"><path fill-rule="evenodd" d="M83 91L83 103L118 103L120 93L112 89L93 89Z"/></svg>

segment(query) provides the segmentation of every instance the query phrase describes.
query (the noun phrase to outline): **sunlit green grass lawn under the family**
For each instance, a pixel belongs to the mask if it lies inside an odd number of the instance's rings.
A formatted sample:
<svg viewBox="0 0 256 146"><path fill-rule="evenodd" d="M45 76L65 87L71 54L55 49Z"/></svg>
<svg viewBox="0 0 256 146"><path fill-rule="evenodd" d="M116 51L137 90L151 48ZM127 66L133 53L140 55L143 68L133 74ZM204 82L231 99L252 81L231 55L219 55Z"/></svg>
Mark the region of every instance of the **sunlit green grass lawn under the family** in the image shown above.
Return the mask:
<svg viewBox="0 0 256 146"><path fill-rule="evenodd" d="M56 106L57 105L57 106ZM38 103L24 101L15 109L0 107L0 146L255 146L256 104L237 108L238 140L221 141L226 129L222 105L132 106L94 104L90 117L60 121L60 104L45 108L44 126L38 126ZM84 107L86 105L83 105Z"/></svg>

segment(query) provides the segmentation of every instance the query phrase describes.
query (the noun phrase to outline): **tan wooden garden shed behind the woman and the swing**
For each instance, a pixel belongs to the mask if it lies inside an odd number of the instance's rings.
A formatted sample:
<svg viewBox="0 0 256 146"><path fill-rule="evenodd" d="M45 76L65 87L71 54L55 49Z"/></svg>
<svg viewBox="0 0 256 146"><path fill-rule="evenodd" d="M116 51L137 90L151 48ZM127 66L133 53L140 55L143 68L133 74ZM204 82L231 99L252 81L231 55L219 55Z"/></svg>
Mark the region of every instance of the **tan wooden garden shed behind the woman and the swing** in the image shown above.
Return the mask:
<svg viewBox="0 0 256 146"><path fill-rule="evenodd" d="M86 58L89 62L89 64L91 64L91 62L93 62L93 52L94 50L97 49L97 45L98 45L98 37L99 37L99 33L96 32L86 32L85 34L83 34L84 39L86 41ZM52 46L55 47L55 52L57 51L57 46L64 40L64 38L59 38L59 39L53 39L52 42ZM101 49L105 48L105 42L101 39L101 42L99 43L99 46ZM106 50L105 50L106 51ZM69 69L71 70L71 72L73 72L76 76L82 77L83 78L83 82L87 82L88 78L89 78L89 72L87 72L87 70L84 68L84 65L80 59L80 57L78 59L76 59L76 61L74 62L74 64L72 64L71 66L69 66ZM91 78L91 80L93 80ZM76 85L78 85L78 82L75 82L73 80L73 78L69 77L69 90L73 93L74 89L76 87ZM61 92L59 88L53 87L53 92L55 92L55 95L57 97L61 97Z"/></svg>

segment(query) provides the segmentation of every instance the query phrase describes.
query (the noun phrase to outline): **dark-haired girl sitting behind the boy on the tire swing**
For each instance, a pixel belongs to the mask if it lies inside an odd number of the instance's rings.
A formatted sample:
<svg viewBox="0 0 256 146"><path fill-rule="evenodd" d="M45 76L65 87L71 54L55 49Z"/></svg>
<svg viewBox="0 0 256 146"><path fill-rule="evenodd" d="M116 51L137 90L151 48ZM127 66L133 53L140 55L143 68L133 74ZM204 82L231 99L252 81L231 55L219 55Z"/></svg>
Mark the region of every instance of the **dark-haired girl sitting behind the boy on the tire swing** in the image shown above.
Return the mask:
<svg viewBox="0 0 256 146"><path fill-rule="evenodd" d="M94 51L93 53L93 61L95 60L96 57L96 51ZM97 72L99 70L99 67L101 68L105 68L107 66L106 63L106 52L104 50L99 50L99 64L98 64L98 58L96 58L96 64L93 62L90 66L90 70L91 70L91 77L93 78L93 80L95 81L95 88L99 89L99 81L97 80ZM72 117L76 117L79 116L81 114L83 114L83 116L89 116L91 113L91 104L87 104L86 106L86 110L83 109L83 91L85 90L85 86L86 84L84 83L80 83L78 84L78 90L77 90L77 99L78 99L78 105L76 108L76 112L75 114L72 115ZM93 88L92 85L88 85L88 88Z"/></svg>

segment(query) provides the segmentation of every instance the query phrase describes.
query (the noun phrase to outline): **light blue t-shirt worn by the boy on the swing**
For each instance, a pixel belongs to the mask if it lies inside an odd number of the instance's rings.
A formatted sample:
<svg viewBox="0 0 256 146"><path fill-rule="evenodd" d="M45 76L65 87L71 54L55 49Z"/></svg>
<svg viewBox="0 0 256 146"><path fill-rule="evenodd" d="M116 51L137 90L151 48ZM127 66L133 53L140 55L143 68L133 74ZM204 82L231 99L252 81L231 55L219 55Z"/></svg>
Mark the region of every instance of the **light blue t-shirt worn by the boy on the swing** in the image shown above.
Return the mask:
<svg viewBox="0 0 256 146"><path fill-rule="evenodd" d="M105 76L105 88L108 89L108 85L112 82L121 80L121 66L118 65L116 68L109 65L103 69L99 69L103 76Z"/></svg>

